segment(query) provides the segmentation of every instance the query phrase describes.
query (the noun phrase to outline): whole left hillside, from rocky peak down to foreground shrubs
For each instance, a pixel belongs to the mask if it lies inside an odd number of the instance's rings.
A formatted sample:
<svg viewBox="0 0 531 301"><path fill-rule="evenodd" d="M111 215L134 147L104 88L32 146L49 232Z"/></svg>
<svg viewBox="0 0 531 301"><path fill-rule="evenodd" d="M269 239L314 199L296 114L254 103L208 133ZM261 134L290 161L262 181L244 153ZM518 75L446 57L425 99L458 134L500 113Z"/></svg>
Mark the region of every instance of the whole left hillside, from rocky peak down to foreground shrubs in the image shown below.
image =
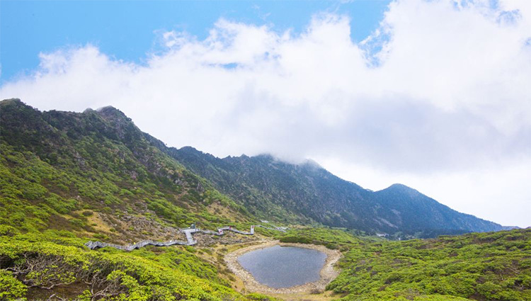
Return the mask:
<svg viewBox="0 0 531 301"><path fill-rule="evenodd" d="M253 219L120 111L40 113L16 100L0 109L0 300L262 298L232 290L208 249L83 246L175 239L169 229L193 222L247 227Z"/></svg>

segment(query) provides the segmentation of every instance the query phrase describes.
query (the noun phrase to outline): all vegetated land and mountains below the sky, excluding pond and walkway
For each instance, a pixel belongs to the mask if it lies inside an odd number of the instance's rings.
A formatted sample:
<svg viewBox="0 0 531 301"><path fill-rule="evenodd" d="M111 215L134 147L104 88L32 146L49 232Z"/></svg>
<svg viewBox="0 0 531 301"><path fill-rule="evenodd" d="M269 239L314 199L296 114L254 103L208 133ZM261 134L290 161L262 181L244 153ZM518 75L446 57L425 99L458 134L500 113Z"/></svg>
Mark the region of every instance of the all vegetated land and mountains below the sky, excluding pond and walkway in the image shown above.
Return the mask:
<svg viewBox="0 0 531 301"><path fill-rule="evenodd" d="M232 289L223 260L229 247L216 239L131 252L84 246L89 239L175 239L182 236L176 228L191 223L249 227L258 218L298 225L257 234L343 252L341 275L328 288L346 301L531 300L530 229L389 242L366 234L433 236L498 225L405 186L372 193L315 164L167 148L114 108L42 113L6 100L0 114L2 301L273 301ZM432 213L417 217L417 208ZM349 221L341 229L319 224ZM456 229L464 224L471 228Z"/></svg>

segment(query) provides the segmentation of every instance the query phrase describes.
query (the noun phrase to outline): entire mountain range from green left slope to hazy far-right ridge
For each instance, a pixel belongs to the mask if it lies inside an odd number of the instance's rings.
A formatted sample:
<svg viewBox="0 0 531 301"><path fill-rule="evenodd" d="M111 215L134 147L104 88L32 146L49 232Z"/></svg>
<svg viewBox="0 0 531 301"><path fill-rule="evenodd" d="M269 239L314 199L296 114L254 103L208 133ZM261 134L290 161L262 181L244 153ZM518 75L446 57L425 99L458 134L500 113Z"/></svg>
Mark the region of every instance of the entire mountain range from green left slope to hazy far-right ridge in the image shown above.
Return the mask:
<svg viewBox="0 0 531 301"><path fill-rule="evenodd" d="M106 229L115 240L257 218L421 237L502 229L403 185L369 191L313 161L166 147L112 107L40 112L11 99L0 110L0 223L13 227Z"/></svg>

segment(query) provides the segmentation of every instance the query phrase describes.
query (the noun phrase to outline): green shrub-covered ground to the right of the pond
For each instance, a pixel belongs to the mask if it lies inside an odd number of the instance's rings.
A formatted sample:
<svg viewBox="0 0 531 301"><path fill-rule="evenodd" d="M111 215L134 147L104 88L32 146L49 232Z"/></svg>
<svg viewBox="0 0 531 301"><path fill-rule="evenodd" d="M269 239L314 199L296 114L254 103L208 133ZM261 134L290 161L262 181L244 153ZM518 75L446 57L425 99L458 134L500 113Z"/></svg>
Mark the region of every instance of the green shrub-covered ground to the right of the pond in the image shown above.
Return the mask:
<svg viewBox="0 0 531 301"><path fill-rule="evenodd" d="M346 253L341 268L328 289L346 293L344 300L531 300L531 229L364 240Z"/></svg>

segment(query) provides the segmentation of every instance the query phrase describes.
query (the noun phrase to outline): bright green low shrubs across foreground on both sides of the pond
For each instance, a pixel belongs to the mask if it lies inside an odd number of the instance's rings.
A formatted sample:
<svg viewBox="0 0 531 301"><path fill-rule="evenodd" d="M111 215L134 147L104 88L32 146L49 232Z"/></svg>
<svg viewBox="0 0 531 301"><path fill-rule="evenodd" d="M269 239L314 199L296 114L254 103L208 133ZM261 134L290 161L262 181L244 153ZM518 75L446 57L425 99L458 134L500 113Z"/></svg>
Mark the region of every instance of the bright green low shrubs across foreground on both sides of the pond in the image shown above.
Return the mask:
<svg viewBox="0 0 531 301"><path fill-rule="evenodd" d="M20 234L13 227L0 226L0 234L0 292L23 295L28 290L25 285L50 286L59 279L69 284L52 291L63 297L89 296L87 275L103 269L103 284L114 285L117 296L121 293L127 300L266 298L244 296L230 288L234 278L213 262L222 261L226 248L91 251L69 232ZM341 274L328 287L334 298L342 300L531 300L530 229L389 242L353 237L338 229L303 228L278 238L342 250ZM13 274L35 260L56 265ZM57 262L67 263L66 268ZM98 290L102 287L96 286L94 291ZM34 288L28 292L32 297L47 293Z"/></svg>

